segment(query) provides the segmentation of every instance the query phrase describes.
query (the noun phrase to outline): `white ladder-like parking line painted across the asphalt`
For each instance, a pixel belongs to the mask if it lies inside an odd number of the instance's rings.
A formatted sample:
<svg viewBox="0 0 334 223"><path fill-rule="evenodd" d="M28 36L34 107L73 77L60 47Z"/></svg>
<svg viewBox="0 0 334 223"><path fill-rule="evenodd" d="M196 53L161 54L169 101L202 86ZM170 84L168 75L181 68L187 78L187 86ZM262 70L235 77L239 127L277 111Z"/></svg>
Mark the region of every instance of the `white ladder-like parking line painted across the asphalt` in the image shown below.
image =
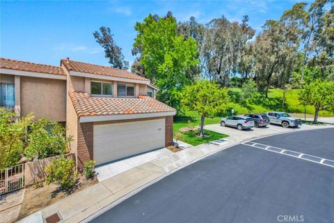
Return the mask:
<svg viewBox="0 0 334 223"><path fill-rule="evenodd" d="M306 160L306 161L309 161L309 162L315 162L317 164L321 164L321 165L324 165L324 166L327 166L327 167L334 167L334 161L333 160L328 160L328 159L325 159L325 158L322 158L322 157L317 157L315 155L308 155L308 154L299 153L299 152L296 152L296 151L290 151L290 150L285 149L285 148L278 148L278 147L275 147L275 146L268 146L268 145L264 145L264 144L254 143L252 141L245 141L242 144L245 145L245 146L253 147L253 148L260 148L264 151L271 151L273 153L279 153L279 154L282 154L282 155L288 155L288 156L291 156L291 157L295 157L295 158L298 158L298 159L301 159L301 160ZM257 145L259 145L259 146L257 146ZM273 148L273 149L268 149L268 148ZM295 153L295 154L299 154L299 155L296 156L296 155L291 155L291 154L288 154L288 153L284 153L285 151ZM303 157L303 155L305 155L306 157L313 157L313 158L319 159L320 161L310 160L308 158ZM332 162L333 165L326 164L326 163L324 163L325 161Z"/></svg>

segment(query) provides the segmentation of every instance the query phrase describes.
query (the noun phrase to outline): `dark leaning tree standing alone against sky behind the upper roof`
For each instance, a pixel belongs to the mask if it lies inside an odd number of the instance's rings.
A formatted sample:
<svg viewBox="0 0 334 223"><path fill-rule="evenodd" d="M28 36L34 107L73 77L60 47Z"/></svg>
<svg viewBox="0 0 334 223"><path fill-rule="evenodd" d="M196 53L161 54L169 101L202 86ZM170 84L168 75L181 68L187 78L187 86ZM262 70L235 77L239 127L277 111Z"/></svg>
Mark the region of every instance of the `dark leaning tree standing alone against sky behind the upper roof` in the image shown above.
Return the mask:
<svg viewBox="0 0 334 223"><path fill-rule="evenodd" d="M104 48L105 56L109 59L111 67L124 70L129 68L129 62L125 61L122 54L122 48L118 47L113 40L113 34L111 33L110 28L101 26L100 32L95 31L93 36L96 42Z"/></svg>

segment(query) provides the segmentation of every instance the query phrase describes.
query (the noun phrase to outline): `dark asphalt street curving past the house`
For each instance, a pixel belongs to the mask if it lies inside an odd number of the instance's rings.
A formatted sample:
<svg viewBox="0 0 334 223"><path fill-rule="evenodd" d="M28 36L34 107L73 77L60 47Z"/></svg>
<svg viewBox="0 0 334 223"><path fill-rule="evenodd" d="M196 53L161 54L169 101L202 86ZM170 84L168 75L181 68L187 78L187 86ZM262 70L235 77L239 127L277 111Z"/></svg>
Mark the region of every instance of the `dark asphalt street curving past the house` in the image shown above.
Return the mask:
<svg viewBox="0 0 334 223"><path fill-rule="evenodd" d="M333 128L255 141L334 160ZM334 222L333 191L334 167L241 144L175 172L92 222Z"/></svg>

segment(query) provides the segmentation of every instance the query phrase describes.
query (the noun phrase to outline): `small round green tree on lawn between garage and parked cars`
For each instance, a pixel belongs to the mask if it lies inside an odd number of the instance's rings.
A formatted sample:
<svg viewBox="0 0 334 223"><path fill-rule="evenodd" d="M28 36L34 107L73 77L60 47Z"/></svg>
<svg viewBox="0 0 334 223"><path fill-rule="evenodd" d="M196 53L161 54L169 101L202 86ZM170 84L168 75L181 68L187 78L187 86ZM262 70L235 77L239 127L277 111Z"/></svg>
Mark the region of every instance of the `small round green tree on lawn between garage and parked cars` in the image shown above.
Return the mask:
<svg viewBox="0 0 334 223"><path fill-rule="evenodd" d="M200 115L200 137L204 137L205 117L223 112L229 102L228 90L207 80L184 87L180 98L186 111L196 111Z"/></svg>

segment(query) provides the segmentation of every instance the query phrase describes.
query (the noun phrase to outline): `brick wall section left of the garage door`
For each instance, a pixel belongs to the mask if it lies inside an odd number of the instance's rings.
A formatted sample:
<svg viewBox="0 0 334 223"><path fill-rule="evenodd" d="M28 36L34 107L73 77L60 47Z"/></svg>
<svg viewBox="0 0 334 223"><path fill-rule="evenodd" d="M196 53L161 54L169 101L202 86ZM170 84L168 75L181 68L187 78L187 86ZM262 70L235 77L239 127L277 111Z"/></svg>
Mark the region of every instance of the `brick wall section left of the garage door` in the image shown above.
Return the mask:
<svg viewBox="0 0 334 223"><path fill-rule="evenodd" d="M78 171L83 170L84 162L88 160L93 160L93 123L78 122Z"/></svg>

